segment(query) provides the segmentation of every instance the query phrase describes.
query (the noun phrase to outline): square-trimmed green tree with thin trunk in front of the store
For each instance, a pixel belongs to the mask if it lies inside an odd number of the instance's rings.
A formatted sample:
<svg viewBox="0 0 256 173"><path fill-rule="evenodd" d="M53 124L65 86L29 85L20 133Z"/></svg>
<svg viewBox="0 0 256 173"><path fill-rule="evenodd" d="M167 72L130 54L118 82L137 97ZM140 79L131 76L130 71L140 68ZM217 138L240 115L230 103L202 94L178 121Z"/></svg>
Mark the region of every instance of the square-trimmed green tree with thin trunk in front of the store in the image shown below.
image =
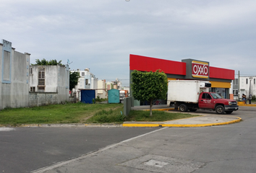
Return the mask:
<svg viewBox="0 0 256 173"><path fill-rule="evenodd" d="M132 95L138 100L150 102L150 116L154 99L166 99L168 89L166 74L160 69L155 72L132 72Z"/></svg>

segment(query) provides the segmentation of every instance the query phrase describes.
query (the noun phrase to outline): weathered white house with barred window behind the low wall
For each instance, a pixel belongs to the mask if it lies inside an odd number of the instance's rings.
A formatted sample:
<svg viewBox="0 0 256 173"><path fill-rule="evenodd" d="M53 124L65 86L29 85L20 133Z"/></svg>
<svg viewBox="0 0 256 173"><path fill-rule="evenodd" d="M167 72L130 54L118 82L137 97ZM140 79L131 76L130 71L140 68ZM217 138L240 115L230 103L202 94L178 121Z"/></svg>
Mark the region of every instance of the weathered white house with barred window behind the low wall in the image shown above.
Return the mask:
<svg viewBox="0 0 256 173"><path fill-rule="evenodd" d="M30 105L69 101L69 66L30 66Z"/></svg>

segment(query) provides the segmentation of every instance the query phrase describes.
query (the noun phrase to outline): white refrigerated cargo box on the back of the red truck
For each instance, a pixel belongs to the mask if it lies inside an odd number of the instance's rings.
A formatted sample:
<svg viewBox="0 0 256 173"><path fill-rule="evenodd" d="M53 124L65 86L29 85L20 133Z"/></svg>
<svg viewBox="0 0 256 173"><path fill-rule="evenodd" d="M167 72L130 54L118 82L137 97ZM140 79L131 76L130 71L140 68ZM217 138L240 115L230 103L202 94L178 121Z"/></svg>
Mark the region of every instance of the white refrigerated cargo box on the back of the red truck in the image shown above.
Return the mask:
<svg viewBox="0 0 256 173"><path fill-rule="evenodd" d="M192 102L198 103L201 92L209 92L209 81L168 81L167 104L170 102Z"/></svg>

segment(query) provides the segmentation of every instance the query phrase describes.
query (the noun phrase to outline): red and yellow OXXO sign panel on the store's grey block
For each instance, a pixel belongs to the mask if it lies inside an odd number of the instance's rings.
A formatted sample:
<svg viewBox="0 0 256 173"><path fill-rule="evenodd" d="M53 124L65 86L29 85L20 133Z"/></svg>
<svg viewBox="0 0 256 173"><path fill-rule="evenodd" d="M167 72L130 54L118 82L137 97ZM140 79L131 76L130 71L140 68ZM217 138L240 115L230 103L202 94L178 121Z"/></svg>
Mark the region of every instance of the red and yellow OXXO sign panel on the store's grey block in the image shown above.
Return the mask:
<svg viewBox="0 0 256 173"><path fill-rule="evenodd" d="M192 61L192 76L195 78L208 78L209 63Z"/></svg>

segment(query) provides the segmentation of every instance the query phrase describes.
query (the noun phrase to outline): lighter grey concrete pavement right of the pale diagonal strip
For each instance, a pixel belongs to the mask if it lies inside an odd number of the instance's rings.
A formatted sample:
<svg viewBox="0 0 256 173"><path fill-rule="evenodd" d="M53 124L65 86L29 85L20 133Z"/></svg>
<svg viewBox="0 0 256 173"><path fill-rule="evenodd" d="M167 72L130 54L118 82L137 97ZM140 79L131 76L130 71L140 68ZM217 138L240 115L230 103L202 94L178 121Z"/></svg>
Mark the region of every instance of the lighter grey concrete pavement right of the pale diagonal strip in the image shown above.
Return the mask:
<svg viewBox="0 0 256 173"><path fill-rule="evenodd" d="M256 172L255 108L236 112L241 123L205 128L161 128L37 173Z"/></svg>

